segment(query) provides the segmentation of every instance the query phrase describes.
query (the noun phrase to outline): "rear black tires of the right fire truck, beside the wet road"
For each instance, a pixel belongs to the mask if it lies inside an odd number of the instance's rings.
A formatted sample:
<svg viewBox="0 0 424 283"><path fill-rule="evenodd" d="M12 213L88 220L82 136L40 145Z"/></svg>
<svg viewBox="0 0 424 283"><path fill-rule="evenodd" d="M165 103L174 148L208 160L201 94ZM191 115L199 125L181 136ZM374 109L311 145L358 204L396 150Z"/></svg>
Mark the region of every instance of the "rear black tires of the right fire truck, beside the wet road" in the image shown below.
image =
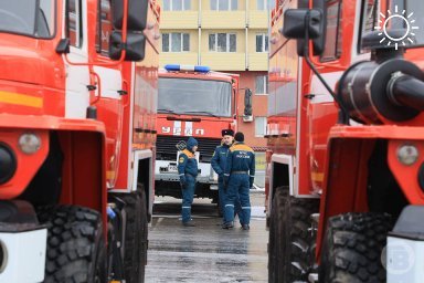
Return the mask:
<svg viewBox="0 0 424 283"><path fill-rule="evenodd" d="M297 199L277 188L269 223L268 282L308 281L314 264L310 214L318 206L317 199Z"/></svg>

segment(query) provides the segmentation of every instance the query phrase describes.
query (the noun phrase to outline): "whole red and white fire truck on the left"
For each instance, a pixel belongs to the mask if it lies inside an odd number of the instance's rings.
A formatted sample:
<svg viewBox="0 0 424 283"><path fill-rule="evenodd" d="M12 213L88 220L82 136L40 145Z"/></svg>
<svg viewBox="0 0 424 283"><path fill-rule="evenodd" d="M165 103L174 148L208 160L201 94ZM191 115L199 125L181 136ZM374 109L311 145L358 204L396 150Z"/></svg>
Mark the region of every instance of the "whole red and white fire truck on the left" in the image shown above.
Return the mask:
<svg viewBox="0 0 424 283"><path fill-rule="evenodd" d="M0 2L1 282L144 282L159 13Z"/></svg>

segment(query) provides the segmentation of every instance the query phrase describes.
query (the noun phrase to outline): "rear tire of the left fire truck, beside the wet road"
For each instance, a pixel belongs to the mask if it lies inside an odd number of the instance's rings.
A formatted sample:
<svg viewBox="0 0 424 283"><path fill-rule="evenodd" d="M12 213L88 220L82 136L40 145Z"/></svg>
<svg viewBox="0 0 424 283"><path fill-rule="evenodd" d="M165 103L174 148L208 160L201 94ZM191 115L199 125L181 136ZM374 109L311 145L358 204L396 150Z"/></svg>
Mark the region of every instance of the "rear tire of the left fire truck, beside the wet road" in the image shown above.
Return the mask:
<svg viewBox="0 0 424 283"><path fill-rule="evenodd" d="M121 196L126 202L127 223L125 232L125 277L128 283L145 282L147 264L147 209L142 187L138 191Z"/></svg>

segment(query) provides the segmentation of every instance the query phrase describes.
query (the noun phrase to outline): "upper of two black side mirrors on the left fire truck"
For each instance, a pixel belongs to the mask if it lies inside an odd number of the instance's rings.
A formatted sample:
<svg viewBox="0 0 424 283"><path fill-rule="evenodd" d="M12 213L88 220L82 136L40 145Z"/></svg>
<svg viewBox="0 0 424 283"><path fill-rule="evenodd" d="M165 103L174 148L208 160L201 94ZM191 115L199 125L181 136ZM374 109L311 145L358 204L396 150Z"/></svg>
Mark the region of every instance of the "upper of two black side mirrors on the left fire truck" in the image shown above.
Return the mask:
<svg viewBox="0 0 424 283"><path fill-rule="evenodd" d="M142 32L147 24L147 11L149 0L127 0L128 1L128 31ZM113 23L117 30L123 29L124 0L112 0Z"/></svg>

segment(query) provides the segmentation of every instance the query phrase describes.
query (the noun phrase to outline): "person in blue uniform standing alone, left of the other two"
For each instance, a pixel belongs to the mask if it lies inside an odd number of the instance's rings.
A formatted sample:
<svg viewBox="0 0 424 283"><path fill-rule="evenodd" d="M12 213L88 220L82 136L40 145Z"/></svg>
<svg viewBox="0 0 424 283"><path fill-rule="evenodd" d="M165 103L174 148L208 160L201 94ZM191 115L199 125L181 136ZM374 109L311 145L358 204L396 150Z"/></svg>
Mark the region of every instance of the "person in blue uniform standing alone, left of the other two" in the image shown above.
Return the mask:
<svg viewBox="0 0 424 283"><path fill-rule="evenodd" d="M191 205L193 203L195 178L198 177L198 160L194 155L195 150L198 150L198 140L190 137L187 140L186 149L178 158L178 174L180 176L182 190L181 217L182 224L186 227L194 226L193 222L191 222Z"/></svg>

